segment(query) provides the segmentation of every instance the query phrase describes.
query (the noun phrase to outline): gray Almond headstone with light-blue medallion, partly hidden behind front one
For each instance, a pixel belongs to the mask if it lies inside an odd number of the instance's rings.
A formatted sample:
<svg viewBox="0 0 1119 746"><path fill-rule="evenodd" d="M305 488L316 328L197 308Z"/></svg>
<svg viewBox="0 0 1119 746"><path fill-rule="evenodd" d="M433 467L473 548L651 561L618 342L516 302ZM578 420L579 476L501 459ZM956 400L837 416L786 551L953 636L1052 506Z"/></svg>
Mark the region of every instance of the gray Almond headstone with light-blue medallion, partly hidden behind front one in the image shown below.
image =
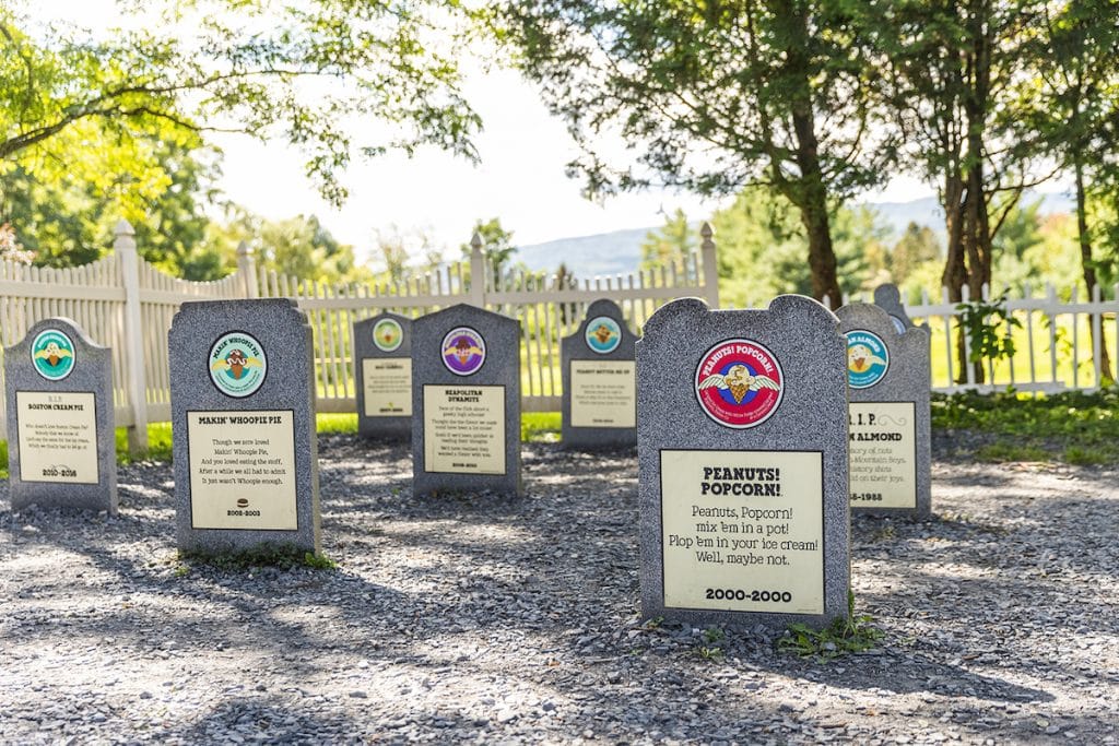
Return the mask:
<svg viewBox="0 0 1119 746"><path fill-rule="evenodd" d="M897 333L893 318L869 303L849 303L836 315L847 336L852 509L928 518L929 330Z"/></svg>

